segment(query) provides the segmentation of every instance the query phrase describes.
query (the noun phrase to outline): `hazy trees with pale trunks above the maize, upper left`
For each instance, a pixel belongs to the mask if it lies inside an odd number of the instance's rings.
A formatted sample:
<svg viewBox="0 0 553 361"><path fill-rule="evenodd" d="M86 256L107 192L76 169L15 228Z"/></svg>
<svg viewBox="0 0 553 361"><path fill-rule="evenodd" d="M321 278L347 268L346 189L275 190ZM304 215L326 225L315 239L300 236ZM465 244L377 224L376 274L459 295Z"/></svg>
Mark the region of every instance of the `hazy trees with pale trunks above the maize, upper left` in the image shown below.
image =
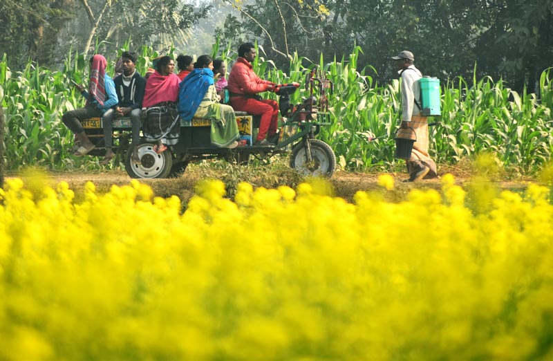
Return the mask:
<svg viewBox="0 0 553 361"><path fill-rule="evenodd" d="M129 38L136 48L184 44L189 28L209 10L180 0L3 0L0 55L8 54L11 68L28 60L56 66L69 48L93 51L95 40L106 52Z"/></svg>

